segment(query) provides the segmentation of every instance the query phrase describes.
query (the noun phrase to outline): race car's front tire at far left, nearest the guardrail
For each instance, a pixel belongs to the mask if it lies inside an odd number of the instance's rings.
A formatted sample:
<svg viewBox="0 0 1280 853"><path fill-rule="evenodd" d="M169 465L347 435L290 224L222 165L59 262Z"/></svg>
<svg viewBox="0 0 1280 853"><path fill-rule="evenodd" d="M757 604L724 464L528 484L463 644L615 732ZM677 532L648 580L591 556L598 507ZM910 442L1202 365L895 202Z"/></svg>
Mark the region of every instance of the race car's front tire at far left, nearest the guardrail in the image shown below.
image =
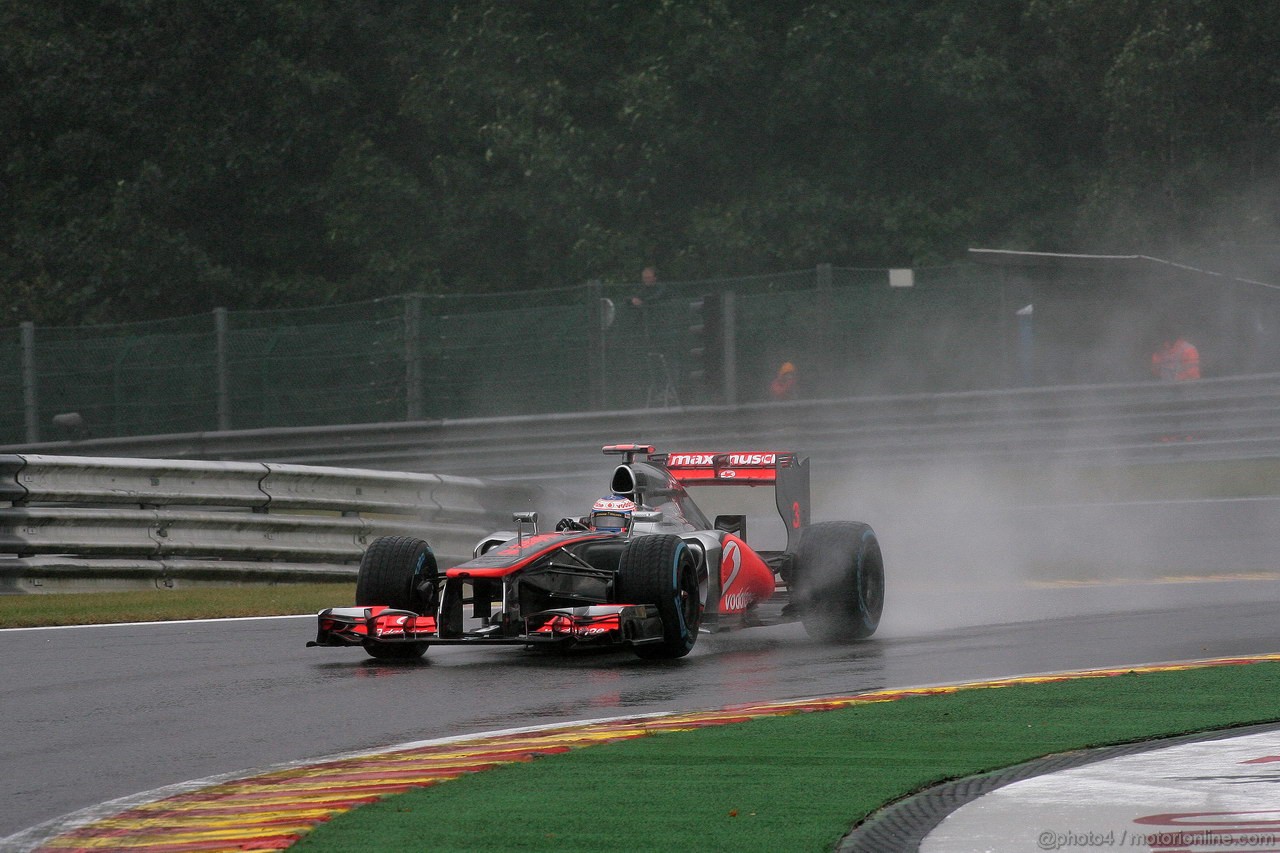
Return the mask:
<svg viewBox="0 0 1280 853"><path fill-rule="evenodd" d="M381 537L365 551L356 574L356 607L385 605L419 615L435 612L439 567L431 546L413 537ZM422 657L428 643L364 642L365 651L383 661Z"/></svg>

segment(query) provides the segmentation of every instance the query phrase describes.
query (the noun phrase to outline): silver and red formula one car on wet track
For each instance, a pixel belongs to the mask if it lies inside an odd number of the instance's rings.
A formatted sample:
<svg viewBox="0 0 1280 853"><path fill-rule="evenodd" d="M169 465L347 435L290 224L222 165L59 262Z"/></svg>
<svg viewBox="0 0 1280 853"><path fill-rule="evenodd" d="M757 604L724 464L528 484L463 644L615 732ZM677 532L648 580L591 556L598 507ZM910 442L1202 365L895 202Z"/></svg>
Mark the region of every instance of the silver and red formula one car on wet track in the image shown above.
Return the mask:
<svg viewBox="0 0 1280 853"><path fill-rule="evenodd" d="M356 606L321 611L308 646L417 658L433 643L613 644L676 658L699 631L796 619L828 642L876 631L884 603L879 543L861 523L809 524L808 459L603 450L625 462L598 517L539 532L536 512L517 512L515 534L486 537L472 560L444 571L422 539L376 539L360 564ZM709 521L689 485L773 487L786 549L753 549L745 515Z"/></svg>

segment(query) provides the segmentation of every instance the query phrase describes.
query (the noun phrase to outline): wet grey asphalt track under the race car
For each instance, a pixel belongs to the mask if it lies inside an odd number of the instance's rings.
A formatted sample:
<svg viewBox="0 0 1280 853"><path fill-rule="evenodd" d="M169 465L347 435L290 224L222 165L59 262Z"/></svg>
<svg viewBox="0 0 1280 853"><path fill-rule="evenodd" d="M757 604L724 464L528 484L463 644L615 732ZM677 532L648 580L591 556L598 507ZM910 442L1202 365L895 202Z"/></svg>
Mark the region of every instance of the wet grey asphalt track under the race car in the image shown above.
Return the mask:
<svg viewBox="0 0 1280 853"><path fill-rule="evenodd" d="M4 630L0 838L173 783L433 736L1280 649L1277 580L1019 592L1034 621L954 628L945 590L899 592L867 643L785 625L704 637L675 663L436 647L392 666L305 648L311 616Z"/></svg>

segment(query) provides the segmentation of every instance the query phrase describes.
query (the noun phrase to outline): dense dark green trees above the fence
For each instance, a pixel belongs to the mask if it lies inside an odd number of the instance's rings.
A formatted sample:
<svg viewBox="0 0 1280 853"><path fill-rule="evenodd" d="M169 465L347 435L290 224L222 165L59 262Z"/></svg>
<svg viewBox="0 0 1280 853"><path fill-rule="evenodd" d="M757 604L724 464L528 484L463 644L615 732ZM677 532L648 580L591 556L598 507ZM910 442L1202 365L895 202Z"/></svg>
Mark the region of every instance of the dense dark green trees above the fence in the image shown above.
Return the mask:
<svg viewBox="0 0 1280 853"><path fill-rule="evenodd" d="M6 0L0 323L1265 255L1280 4Z"/></svg>

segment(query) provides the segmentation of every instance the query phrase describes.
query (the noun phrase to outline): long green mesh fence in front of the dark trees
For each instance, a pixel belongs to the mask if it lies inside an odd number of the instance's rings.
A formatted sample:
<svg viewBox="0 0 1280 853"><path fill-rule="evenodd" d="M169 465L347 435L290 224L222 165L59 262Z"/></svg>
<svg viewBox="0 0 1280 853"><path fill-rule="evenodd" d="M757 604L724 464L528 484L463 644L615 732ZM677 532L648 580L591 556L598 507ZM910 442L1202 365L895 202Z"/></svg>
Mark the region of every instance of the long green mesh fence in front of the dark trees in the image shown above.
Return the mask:
<svg viewBox="0 0 1280 853"><path fill-rule="evenodd" d="M1206 375L1280 369L1276 291L1234 284L823 265L24 324L0 329L0 442L756 402L783 362L810 398L1126 382L1169 306Z"/></svg>

